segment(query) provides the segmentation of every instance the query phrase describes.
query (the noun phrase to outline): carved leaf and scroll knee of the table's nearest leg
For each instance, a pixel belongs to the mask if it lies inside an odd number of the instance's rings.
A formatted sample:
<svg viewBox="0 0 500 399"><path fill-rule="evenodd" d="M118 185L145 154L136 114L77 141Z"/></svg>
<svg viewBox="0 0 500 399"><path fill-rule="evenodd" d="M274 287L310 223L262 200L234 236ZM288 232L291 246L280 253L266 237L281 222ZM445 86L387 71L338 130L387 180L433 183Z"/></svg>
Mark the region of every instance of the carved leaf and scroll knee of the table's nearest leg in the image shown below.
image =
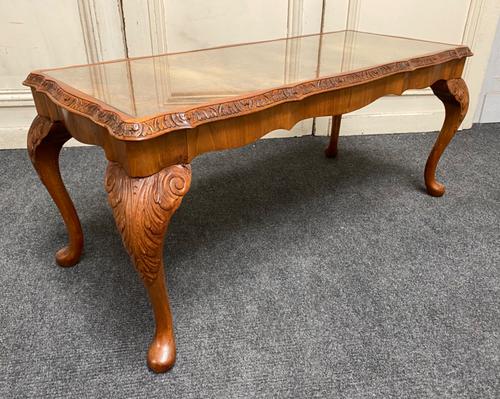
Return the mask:
<svg viewBox="0 0 500 399"><path fill-rule="evenodd" d="M163 265L163 237L191 184L191 166L174 165L148 177L129 177L117 163L105 187L123 243L141 278L153 282Z"/></svg>

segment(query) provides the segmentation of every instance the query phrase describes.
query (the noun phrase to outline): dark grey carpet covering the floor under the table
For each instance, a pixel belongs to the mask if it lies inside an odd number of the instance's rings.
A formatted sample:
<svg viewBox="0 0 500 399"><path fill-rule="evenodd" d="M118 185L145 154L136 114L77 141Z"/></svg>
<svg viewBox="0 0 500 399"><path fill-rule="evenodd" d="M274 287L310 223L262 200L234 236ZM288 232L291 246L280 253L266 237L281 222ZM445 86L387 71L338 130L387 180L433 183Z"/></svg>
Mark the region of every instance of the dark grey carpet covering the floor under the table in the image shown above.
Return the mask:
<svg viewBox="0 0 500 399"><path fill-rule="evenodd" d="M59 214L25 151L0 151L0 397L498 398L500 124L259 141L193 162L165 259L178 358L115 229L98 148L61 164L86 245L55 265Z"/></svg>

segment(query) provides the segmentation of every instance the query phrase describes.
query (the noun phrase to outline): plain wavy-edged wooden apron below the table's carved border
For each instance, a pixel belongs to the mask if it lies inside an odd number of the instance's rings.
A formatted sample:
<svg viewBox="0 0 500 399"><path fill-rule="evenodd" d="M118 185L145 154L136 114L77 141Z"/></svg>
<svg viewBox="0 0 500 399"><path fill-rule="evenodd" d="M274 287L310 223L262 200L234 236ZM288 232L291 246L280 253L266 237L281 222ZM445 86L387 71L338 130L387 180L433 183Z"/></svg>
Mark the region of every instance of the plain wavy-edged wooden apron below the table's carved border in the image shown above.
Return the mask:
<svg viewBox="0 0 500 399"><path fill-rule="evenodd" d="M462 58L382 76L367 83L314 94L301 101L284 102L238 117L203 123L192 129L134 140L117 138L109 133L109 127L79 112L69 111L44 92L32 91L39 115L63 122L77 140L102 147L106 158L122 165L129 176L144 177L169 165L190 163L205 152L244 146L272 130L290 129L303 119L343 115L388 94L400 95L408 89L430 87L438 80L460 78L464 64L465 58Z"/></svg>

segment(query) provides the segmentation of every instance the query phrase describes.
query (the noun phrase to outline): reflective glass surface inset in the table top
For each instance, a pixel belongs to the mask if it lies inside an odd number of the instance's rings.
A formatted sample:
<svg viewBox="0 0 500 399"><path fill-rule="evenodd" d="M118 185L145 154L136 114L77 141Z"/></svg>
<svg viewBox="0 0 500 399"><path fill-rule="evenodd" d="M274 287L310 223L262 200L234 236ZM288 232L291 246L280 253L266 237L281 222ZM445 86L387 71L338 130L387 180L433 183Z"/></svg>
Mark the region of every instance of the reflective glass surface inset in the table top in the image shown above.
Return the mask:
<svg viewBox="0 0 500 399"><path fill-rule="evenodd" d="M133 117L453 50L459 45L339 31L44 70Z"/></svg>

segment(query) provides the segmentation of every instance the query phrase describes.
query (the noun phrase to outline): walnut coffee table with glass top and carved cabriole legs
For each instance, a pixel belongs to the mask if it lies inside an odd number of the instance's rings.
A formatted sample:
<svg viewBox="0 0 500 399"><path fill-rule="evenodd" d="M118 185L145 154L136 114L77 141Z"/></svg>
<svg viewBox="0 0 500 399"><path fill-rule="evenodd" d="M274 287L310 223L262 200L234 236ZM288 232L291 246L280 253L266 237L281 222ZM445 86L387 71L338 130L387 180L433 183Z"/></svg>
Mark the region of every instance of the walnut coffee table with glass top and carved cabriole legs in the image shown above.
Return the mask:
<svg viewBox="0 0 500 399"><path fill-rule="evenodd" d="M342 114L388 94L431 87L446 116L425 184L430 195L441 196L436 165L467 112L461 75L471 55L465 46L340 31L33 72L24 82L38 112L28 152L69 235L56 261L75 265L83 247L58 165L62 145L74 137L101 146L109 161L109 204L156 321L148 365L166 371L176 350L163 239L189 190L193 158L327 115L333 124L325 153L333 157Z"/></svg>

